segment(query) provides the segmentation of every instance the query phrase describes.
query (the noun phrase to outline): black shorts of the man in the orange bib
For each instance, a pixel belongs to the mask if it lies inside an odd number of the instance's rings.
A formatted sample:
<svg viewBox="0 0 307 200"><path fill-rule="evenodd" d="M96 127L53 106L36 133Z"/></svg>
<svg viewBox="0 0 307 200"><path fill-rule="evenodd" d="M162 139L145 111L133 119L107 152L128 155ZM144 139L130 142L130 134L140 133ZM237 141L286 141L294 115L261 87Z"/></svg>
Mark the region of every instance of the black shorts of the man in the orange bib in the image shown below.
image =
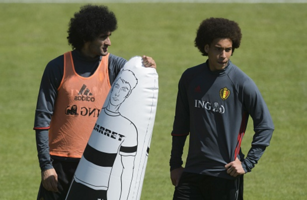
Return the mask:
<svg viewBox="0 0 307 200"><path fill-rule="evenodd" d="M53 159L52 165L57 173L58 192L46 190L41 183L37 200L65 200L78 163L79 161L63 161Z"/></svg>

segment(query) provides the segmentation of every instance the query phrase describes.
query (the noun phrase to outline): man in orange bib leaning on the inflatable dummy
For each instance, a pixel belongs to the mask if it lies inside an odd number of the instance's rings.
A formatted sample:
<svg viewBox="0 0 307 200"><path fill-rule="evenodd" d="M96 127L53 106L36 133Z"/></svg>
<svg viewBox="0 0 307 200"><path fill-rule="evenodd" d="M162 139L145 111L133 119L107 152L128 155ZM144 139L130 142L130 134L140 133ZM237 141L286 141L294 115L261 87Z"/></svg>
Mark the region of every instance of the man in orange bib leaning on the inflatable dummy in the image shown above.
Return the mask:
<svg viewBox="0 0 307 200"><path fill-rule="evenodd" d="M81 7L67 31L72 51L45 68L34 122L41 168L38 200L66 197L111 85L126 63L108 52L116 29L117 19L107 7ZM156 68L152 58L142 58L145 67Z"/></svg>

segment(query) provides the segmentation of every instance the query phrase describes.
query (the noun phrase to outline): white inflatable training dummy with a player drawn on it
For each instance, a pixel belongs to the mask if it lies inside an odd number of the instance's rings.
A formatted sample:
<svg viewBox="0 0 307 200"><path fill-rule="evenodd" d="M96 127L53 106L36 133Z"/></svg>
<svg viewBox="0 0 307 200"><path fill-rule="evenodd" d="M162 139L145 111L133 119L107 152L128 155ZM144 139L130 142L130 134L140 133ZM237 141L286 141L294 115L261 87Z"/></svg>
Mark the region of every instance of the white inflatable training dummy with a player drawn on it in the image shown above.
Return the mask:
<svg viewBox="0 0 307 200"><path fill-rule="evenodd" d="M132 57L105 100L66 200L138 200L158 102L158 74Z"/></svg>

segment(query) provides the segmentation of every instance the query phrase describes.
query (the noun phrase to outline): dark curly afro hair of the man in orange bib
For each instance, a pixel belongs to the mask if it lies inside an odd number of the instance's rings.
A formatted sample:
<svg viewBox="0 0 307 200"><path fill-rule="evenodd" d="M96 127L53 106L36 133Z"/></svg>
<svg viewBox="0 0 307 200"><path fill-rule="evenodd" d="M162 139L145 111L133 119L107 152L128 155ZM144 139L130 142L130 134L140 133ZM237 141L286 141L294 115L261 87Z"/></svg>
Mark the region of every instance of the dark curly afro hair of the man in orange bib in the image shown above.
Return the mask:
<svg viewBox="0 0 307 200"><path fill-rule="evenodd" d="M68 27L68 44L81 49L85 42L94 41L100 34L117 29L115 14L106 6L85 5L74 13Z"/></svg>

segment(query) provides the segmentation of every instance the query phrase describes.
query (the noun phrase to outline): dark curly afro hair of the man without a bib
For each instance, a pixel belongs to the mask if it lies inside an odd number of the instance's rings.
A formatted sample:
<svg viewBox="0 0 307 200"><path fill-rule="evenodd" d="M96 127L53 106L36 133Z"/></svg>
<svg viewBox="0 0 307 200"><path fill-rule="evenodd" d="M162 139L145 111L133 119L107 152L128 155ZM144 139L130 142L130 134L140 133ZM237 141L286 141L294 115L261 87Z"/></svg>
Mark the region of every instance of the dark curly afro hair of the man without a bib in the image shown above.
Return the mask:
<svg viewBox="0 0 307 200"><path fill-rule="evenodd" d="M208 56L204 47L205 45L210 45L217 38L231 39L234 53L235 49L240 47L242 38L241 29L234 21L224 18L208 18L200 23L194 46L198 48L203 56Z"/></svg>

